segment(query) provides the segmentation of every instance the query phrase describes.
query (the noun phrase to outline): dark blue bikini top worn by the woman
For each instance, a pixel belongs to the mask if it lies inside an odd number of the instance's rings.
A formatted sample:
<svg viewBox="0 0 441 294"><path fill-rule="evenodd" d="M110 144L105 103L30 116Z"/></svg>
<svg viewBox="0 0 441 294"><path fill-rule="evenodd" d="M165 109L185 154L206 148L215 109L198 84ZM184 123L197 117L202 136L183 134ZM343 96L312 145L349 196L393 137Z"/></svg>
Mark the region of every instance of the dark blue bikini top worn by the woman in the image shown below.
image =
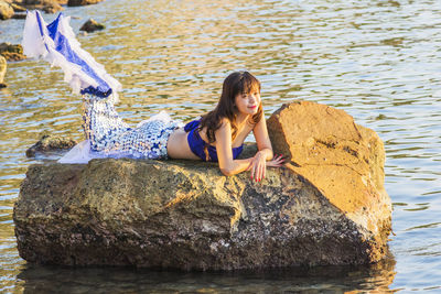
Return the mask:
<svg viewBox="0 0 441 294"><path fill-rule="evenodd" d="M205 146L208 151L208 161L217 162L217 151L215 146L209 145L204 140L202 140L197 128L200 127L201 120L193 120L185 124L184 131L189 133L187 141L192 152L200 156L203 161L206 161ZM244 150L244 144L238 148L233 148L233 159L239 156L240 152Z"/></svg>

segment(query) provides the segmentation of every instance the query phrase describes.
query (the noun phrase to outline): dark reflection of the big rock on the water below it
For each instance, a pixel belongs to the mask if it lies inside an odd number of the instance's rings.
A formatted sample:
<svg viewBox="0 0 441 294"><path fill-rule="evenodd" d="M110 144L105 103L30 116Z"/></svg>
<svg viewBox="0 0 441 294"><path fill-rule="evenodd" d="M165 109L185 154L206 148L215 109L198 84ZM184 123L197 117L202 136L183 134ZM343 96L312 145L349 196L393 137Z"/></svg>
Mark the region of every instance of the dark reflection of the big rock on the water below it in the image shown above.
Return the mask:
<svg viewBox="0 0 441 294"><path fill-rule="evenodd" d="M18 275L17 288L23 293L385 293L390 291L394 266L390 258L363 266L195 273L28 265Z"/></svg>

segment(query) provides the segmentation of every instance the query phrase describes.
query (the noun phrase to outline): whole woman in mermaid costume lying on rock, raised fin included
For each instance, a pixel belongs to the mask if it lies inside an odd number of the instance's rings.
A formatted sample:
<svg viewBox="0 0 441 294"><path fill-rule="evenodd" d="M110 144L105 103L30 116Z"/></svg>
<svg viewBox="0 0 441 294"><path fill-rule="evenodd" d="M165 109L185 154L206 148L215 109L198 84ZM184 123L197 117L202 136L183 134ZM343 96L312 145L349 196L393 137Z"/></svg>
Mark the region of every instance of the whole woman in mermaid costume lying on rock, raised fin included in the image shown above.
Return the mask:
<svg viewBox="0 0 441 294"><path fill-rule="evenodd" d="M282 156L272 154L260 83L248 72L228 75L216 108L202 119L182 126L162 111L130 128L114 106L119 83L79 47L68 19L60 14L46 25L39 12L28 12L23 47L28 56L61 66L65 79L83 94L87 140L63 156L62 163L84 163L95 157L203 160L218 162L225 175L250 171L257 182L265 177L267 166L283 164ZM259 151L238 160L251 131Z"/></svg>

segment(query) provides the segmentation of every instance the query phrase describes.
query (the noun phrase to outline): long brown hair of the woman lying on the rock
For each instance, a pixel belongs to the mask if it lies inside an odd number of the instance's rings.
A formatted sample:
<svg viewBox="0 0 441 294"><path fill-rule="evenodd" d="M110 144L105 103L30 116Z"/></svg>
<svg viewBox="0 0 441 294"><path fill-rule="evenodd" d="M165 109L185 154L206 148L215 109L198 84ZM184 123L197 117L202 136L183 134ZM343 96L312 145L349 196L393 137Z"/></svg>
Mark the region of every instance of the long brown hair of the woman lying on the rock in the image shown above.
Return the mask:
<svg viewBox="0 0 441 294"><path fill-rule="evenodd" d="M260 94L260 81L248 72L235 72L229 74L222 87L220 99L217 102L217 106L214 110L209 111L205 116L202 117L200 131L206 129L206 135L208 139L208 143L213 143L216 141L215 131L220 128L222 119L227 118L229 123L232 124L232 140L234 140L237 135L237 124L236 124L236 104L235 98L238 94L249 94L255 88L259 89ZM250 118L250 123L256 124L262 118L262 106L261 100L259 102L259 107L257 113Z"/></svg>

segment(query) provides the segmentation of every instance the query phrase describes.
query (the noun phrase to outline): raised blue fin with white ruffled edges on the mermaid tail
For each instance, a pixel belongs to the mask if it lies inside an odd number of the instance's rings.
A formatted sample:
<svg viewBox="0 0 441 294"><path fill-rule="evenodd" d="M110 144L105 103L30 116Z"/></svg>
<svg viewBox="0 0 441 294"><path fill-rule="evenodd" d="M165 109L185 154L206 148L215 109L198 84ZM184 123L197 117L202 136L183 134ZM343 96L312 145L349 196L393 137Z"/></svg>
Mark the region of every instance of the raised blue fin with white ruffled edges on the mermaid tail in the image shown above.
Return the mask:
<svg viewBox="0 0 441 294"><path fill-rule="evenodd" d="M39 11L28 11L22 41L24 54L61 67L64 80L74 92L92 94L97 98L110 96L117 101L121 84L80 47L69 21L69 17L60 13L46 24Z"/></svg>

